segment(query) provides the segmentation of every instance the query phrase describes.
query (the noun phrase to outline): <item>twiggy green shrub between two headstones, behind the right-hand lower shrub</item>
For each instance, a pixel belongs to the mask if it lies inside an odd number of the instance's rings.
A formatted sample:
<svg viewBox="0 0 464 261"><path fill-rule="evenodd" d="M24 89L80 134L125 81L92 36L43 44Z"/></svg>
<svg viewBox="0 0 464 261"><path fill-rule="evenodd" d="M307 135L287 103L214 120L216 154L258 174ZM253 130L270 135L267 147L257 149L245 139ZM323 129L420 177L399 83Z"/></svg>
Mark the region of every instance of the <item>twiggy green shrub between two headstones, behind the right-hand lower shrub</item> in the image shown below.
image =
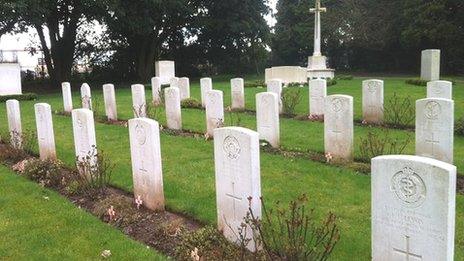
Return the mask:
<svg viewBox="0 0 464 261"><path fill-rule="evenodd" d="M413 124L415 119L415 106L411 97L399 97L396 93L385 105L385 122L395 128L405 128Z"/></svg>

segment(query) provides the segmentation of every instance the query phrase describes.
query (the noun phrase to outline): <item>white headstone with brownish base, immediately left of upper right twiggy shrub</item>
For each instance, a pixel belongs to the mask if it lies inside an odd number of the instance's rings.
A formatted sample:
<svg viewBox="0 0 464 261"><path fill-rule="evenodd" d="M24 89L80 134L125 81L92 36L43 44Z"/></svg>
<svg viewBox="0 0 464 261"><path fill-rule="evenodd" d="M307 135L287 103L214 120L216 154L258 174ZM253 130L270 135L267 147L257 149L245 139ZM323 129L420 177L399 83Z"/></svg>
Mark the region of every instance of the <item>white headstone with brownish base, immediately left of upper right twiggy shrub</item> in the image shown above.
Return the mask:
<svg viewBox="0 0 464 261"><path fill-rule="evenodd" d="M383 122L383 81L366 80L362 83L363 120L367 123Z"/></svg>

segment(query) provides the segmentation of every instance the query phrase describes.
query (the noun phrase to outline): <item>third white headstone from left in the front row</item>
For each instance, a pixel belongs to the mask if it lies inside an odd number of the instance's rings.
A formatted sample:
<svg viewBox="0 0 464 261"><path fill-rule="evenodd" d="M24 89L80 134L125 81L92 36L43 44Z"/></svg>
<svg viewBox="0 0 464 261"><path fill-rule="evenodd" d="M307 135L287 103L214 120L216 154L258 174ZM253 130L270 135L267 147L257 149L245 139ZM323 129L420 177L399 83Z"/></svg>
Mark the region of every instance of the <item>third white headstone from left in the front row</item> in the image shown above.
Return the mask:
<svg viewBox="0 0 464 261"><path fill-rule="evenodd" d="M97 141L95 138L93 112L89 109L75 109L71 115L76 160L82 161L89 156L91 165L96 166ZM86 174L85 170L79 171L81 174Z"/></svg>

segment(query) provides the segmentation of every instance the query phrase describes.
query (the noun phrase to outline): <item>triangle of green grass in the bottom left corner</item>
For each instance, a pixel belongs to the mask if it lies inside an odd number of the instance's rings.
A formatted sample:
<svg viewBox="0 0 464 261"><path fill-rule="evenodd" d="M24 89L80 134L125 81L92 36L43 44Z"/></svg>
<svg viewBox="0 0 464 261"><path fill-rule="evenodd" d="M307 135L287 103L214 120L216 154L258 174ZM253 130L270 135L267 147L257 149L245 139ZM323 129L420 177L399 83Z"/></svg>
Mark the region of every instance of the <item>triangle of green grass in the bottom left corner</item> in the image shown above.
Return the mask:
<svg viewBox="0 0 464 261"><path fill-rule="evenodd" d="M1 260L166 260L66 198L0 166Z"/></svg>

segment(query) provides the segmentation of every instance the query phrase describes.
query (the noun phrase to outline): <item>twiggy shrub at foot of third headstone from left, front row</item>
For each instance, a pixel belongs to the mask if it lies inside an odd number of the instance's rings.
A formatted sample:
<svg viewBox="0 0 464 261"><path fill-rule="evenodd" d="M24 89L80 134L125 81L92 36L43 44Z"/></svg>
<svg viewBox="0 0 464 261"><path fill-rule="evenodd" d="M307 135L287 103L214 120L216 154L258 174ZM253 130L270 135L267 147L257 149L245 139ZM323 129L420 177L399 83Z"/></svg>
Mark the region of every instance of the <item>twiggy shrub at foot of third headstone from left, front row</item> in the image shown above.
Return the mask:
<svg viewBox="0 0 464 261"><path fill-rule="evenodd" d="M92 150L83 158L76 158L79 171L76 181L79 183L80 192L104 192L108 187L114 165L103 152Z"/></svg>

